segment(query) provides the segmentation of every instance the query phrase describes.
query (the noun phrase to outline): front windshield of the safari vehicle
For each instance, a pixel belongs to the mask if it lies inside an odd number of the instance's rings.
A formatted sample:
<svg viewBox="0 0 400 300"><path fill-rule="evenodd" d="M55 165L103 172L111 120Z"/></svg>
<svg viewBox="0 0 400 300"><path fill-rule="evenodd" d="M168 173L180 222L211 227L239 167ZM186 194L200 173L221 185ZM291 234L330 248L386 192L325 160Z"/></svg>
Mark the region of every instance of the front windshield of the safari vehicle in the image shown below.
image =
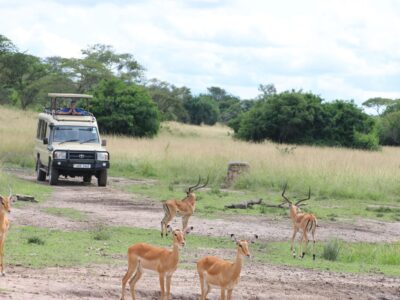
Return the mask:
<svg viewBox="0 0 400 300"><path fill-rule="evenodd" d="M54 126L52 141L56 143L98 143L99 134L93 126Z"/></svg>

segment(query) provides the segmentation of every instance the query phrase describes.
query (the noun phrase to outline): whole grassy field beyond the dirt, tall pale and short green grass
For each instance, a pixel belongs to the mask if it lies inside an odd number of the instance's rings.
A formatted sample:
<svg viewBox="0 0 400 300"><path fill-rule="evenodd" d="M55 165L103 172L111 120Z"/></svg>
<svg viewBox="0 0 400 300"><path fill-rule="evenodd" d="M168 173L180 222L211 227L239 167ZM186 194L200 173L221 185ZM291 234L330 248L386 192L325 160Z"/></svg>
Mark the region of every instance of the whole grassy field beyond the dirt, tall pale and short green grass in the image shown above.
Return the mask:
<svg viewBox="0 0 400 300"><path fill-rule="evenodd" d="M4 165L33 169L36 113L0 107L0 159ZM308 210L322 219L367 217L400 220L400 149L384 147L369 152L341 148L287 146L269 142L246 143L232 138L225 126L162 124L154 139L105 136L111 153L110 174L128 178L154 178L153 186L132 185L130 192L162 200L182 198L198 176L210 176L210 189L199 192L198 212L276 214L263 206L224 211L224 205L263 198L279 203L283 184L289 197L303 197L308 186ZM235 192L220 189L227 163L246 161L251 171L235 182Z"/></svg>

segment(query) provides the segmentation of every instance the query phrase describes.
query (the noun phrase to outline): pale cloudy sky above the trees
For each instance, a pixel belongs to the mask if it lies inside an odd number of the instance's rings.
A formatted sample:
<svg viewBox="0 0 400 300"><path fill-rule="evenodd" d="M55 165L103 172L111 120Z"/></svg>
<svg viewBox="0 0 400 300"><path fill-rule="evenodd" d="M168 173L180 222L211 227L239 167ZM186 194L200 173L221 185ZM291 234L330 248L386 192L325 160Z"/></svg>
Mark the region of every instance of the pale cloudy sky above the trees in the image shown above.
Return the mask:
<svg viewBox="0 0 400 300"><path fill-rule="evenodd" d="M195 94L273 83L360 104L400 98L399 16L396 0L0 0L0 34L40 57L112 45Z"/></svg>

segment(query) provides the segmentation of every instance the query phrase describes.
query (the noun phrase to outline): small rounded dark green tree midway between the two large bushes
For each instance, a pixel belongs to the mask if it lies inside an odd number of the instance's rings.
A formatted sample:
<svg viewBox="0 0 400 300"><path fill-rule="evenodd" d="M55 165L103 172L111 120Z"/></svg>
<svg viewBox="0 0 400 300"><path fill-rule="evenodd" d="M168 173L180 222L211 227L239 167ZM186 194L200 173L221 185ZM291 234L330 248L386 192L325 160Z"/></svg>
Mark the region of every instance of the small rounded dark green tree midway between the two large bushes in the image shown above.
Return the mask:
<svg viewBox="0 0 400 300"><path fill-rule="evenodd" d="M218 121L219 109L215 101L207 95L194 97L185 103L189 113L190 123L214 125Z"/></svg>

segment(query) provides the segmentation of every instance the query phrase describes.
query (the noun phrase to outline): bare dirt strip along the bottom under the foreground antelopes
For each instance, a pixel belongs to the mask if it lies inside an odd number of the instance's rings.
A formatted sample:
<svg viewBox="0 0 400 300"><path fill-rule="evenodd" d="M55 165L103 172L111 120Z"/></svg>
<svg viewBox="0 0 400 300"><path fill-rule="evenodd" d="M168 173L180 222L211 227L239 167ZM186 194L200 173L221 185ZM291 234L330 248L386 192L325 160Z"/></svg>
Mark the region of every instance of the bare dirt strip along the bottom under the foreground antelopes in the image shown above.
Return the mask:
<svg viewBox="0 0 400 300"><path fill-rule="evenodd" d="M119 299L123 266L80 268L8 268L0 280L1 299ZM172 279L172 299L199 299L195 270L178 269ZM399 299L400 280L276 267L247 262L234 299ZM160 299L158 275L146 272L137 286L139 299ZM126 298L130 292L126 290ZM213 289L208 299L219 299Z"/></svg>

